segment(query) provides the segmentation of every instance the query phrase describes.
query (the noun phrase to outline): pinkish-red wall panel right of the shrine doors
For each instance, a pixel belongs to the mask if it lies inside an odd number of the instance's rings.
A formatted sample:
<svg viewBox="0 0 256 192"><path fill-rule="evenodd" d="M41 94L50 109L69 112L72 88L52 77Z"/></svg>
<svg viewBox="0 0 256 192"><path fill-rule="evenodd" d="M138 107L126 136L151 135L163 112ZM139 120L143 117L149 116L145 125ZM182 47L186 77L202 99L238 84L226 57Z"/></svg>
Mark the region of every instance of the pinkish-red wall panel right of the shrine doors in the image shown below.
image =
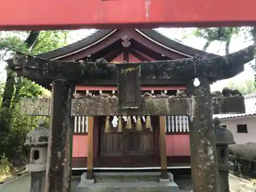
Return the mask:
<svg viewBox="0 0 256 192"><path fill-rule="evenodd" d="M189 135L166 135L167 157L190 156Z"/></svg>

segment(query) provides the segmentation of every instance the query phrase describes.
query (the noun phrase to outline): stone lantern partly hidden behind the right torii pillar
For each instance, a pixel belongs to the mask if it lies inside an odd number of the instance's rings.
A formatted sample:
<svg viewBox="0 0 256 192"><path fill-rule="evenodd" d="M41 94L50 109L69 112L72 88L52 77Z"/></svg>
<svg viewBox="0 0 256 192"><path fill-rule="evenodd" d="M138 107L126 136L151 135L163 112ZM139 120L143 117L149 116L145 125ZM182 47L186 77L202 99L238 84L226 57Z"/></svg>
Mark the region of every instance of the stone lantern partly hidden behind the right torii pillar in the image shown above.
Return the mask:
<svg viewBox="0 0 256 192"><path fill-rule="evenodd" d="M229 192L228 171L233 170L234 165L229 161L228 145L235 144L233 134L225 127L220 126L221 120L214 118L215 142L217 149L217 159L219 165L219 175L221 190Z"/></svg>

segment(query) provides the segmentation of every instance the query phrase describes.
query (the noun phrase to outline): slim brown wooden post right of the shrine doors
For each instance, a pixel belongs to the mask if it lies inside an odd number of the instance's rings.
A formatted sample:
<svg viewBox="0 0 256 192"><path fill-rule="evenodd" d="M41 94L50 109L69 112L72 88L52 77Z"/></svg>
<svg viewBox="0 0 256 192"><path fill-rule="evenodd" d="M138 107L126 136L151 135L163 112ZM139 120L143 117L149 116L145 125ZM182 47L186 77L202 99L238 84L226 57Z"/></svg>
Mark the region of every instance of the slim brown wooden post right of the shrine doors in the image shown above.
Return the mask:
<svg viewBox="0 0 256 192"><path fill-rule="evenodd" d="M167 156L166 156L166 116L159 116L160 125L160 158L161 158L161 179L168 179L167 173Z"/></svg>

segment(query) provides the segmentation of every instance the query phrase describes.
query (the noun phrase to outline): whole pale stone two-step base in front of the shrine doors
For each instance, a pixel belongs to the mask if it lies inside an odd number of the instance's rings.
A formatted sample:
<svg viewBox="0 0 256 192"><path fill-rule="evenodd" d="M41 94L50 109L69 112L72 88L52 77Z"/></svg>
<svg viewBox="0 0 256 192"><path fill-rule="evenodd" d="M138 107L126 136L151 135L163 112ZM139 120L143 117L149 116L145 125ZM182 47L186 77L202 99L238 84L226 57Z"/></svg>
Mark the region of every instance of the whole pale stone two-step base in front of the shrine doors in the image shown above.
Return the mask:
<svg viewBox="0 0 256 192"><path fill-rule="evenodd" d="M178 191L173 174L162 181L160 172L145 173L95 173L94 180L87 180L87 173L81 175L76 192L170 192Z"/></svg>

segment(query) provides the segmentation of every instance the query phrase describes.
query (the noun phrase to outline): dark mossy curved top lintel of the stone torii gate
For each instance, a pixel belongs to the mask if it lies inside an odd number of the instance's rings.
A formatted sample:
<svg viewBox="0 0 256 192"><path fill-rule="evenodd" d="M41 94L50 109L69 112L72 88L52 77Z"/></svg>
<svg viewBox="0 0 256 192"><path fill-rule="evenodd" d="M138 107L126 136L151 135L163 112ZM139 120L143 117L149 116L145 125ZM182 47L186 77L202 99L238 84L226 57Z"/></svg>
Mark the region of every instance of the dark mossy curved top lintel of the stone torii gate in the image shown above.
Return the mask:
<svg viewBox="0 0 256 192"><path fill-rule="evenodd" d="M238 52L218 57L200 57L179 60L150 61L133 63L140 66L141 79L193 79L206 77L212 81L236 76L244 70L244 64L254 59L255 46L251 45ZM29 79L67 79L80 83L93 79L115 80L118 63L57 61L26 55L14 54L9 67L18 75ZM123 64L121 64L123 65Z"/></svg>

